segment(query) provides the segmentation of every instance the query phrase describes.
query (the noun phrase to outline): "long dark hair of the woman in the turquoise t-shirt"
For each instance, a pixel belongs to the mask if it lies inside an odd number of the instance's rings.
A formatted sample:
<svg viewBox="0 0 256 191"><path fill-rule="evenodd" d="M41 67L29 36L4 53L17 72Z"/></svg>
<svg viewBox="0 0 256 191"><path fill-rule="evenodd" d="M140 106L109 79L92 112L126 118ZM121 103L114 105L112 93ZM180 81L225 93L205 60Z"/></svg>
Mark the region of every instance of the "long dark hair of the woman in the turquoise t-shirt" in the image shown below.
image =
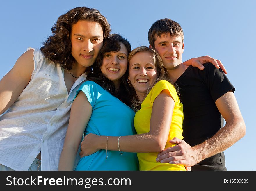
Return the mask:
<svg viewBox="0 0 256 191"><path fill-rule="evenodd" d="M87 80L94 81L95 83L99 84L102 88L109 91L113 96L120 99L123 103L128 106L131 106L130 101L130 89L128 84L128 67L127 70L120 78L120 86L119 89L115 88L114 83L106 78L100 69L102 66L103 56L108 52L117 52L121 49L121 43L125 45L127 49L127 53L131 52L131 44L125 38L122 38L119 34L110 34L103 42L102 49L99 51L99 56L96 62L92 66L92 70L87 75ZM127 56L128 56L127 55Z"/></svg>

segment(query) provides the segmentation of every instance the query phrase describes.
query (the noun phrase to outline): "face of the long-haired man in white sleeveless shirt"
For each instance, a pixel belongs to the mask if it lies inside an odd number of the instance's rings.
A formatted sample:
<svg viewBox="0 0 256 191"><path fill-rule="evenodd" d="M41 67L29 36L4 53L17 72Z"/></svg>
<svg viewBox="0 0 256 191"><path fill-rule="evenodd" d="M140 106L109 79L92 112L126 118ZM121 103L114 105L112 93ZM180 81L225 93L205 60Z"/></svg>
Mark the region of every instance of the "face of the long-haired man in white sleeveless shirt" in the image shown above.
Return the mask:
<svg viewBox="0 0 256 191"><path fill-rule="evenodd" d="M93 65L103 45L103 30L99 23L78 21L71 29L72 56L76 66Z"/></svg>

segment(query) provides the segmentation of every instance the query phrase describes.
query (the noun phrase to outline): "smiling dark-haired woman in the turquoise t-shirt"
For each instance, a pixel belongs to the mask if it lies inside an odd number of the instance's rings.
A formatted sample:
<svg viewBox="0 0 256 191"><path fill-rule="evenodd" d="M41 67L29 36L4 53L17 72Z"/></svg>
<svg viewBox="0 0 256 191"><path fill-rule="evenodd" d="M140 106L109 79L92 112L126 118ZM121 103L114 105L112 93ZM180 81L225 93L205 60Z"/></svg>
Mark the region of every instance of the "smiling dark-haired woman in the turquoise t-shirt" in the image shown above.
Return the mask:
<svg viewBox="0 0 256 191"><path fill-rule="evenodd" d="M118 34L105 39L99 57L74 98L59 170L73 170L83 133L134 135L134 111L127 105L127 58L130 43ZM127 105L126 105L126 104ZM75 170L138 170L136 153L99 150L79 160Z"/></svg>

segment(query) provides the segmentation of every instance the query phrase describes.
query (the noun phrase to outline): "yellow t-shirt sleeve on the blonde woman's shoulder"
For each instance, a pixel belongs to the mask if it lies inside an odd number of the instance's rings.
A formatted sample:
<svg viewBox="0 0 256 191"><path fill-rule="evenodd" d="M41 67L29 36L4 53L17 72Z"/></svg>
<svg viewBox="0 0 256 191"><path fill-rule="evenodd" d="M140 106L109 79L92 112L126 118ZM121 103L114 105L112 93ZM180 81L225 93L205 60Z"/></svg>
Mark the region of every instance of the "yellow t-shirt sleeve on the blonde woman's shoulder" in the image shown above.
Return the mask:
<svg viewBox="0 0 256 191"><path fill-rule="evenodd" d="M151 92L151 102L153 103L154 100L157 98L157 96L163 91L163 90L168 90L170 92L170 95L173 97L173 100L175 103L177 103L178 95L173 87L173 85L166 81L166 80L160 80L157 82L154 87L152 88Z"/></svg>

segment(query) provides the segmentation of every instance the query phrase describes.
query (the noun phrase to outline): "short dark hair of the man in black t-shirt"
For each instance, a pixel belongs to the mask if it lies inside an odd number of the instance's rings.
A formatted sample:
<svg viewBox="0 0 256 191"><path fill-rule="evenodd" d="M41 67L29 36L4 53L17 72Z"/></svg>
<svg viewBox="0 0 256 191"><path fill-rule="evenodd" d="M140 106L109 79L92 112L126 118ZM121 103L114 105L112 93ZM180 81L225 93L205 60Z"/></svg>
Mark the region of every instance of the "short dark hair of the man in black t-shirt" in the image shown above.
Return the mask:
<svg viewBox="0 0 256 191"><path fill-rule="evenodd" d="M150 27L149 31L148 31L148 42L149 44L154 47L154 43L155 43L155 35L157 35L158 37L161 37L161 35L165 35L166 33L170 33L170 35L172 37L182 37L182 42L184 40L184 34L183 34L183 30L181 28L181 26L179 25L179 23L171 20L171 19L160 19L156 22L154 22L154 24L152 24L152 26Z"/></svg>

